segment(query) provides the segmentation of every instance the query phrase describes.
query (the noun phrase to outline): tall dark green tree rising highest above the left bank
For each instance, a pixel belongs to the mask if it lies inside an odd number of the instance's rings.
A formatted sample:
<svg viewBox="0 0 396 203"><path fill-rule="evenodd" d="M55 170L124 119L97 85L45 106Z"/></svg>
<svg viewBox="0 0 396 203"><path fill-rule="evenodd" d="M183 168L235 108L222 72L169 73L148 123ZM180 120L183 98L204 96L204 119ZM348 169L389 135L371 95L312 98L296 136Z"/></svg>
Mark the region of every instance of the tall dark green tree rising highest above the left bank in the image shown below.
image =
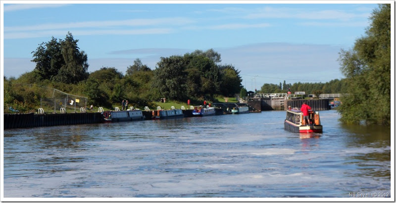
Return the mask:
<svg viewBox="0 0 396 203"><path fill-rule="evenodd" d="M88 57L77 46L78 40L68 32L65 40L53 38L33 51L36 70L51 81L77 83L88 78Z"/></svg>

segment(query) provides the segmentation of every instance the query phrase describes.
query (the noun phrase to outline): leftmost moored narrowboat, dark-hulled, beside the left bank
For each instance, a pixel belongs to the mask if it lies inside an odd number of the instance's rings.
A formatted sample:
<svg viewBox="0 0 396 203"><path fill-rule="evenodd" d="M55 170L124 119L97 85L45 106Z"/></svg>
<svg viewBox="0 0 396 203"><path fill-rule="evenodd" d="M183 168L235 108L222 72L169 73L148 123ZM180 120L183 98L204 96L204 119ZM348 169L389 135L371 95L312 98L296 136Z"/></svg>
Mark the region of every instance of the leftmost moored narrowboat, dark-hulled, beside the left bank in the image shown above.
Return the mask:
<svg viewBox="0 0 396 203"><path fill-rule="evenodd" d="M143 121L145 118L141 110L104 111L104 122Z"/></svg>

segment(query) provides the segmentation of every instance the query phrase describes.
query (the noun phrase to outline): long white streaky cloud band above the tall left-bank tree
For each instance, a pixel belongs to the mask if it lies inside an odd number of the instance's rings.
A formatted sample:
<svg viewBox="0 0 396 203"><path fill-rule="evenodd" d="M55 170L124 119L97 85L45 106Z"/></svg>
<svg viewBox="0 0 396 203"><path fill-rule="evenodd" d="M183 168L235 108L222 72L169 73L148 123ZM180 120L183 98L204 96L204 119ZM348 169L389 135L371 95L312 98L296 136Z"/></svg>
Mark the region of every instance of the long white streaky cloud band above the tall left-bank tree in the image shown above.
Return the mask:
<svg viewBox="0 0 396 203"><path fill-rule="evenodd" d="M63 36L68 31L72 31L74 35L169 34L175 32L173 27L188 25L193 22L195 21L188 18L174 17L7 26L4 27L4 39Z"/></svg>

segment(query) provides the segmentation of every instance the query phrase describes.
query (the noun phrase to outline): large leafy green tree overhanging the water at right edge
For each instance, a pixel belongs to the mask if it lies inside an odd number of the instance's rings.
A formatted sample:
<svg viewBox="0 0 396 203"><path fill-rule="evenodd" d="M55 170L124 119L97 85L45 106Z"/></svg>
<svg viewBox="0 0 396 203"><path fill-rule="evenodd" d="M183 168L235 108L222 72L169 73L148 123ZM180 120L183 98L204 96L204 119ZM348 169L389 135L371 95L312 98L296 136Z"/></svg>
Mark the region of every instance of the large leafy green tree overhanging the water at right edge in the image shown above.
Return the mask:
<svg viewBox="0 0 396 203"><path fill-rule="evenodd" d="M350 93L340 106L341 121L391 122L391 4L374 9L365 36L340 53L341 71Z"/></svg>

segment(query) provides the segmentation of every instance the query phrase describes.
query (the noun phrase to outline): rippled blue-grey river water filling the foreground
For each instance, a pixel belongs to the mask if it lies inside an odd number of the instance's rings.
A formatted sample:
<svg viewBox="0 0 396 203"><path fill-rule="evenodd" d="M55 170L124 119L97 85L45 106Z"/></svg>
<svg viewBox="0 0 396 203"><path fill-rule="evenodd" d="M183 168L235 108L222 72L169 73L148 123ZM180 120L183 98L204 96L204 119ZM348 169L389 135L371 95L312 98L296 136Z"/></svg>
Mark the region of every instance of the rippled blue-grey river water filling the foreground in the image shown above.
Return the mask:
<svg viewBox="0 0 396 203"><path fill-rule="evenodd" d="M285 117L4 130L4 198L391 197L390 128L342 125L331 110L309 136Z"/></svg>

